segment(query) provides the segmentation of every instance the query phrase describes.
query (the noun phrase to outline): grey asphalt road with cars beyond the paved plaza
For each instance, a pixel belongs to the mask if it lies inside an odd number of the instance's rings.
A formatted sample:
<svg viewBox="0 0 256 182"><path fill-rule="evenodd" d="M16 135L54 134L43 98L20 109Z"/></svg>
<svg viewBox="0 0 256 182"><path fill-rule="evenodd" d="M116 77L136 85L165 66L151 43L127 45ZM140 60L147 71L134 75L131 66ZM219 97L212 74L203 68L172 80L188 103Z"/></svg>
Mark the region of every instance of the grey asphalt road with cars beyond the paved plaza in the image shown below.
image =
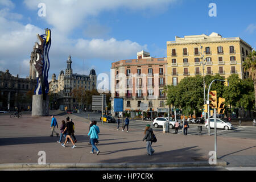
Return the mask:
<svg viewBox="0 0 256 182"><path fill-rule="evenodd" d="M75 115L79 117L83 117L86 119L90 120L96 120L100 121L100 113L81 113L77 114L74 113ZM89 114L89 115L88 115ZM124 119L125 120L125 119ZM121 123L120 126L122 127L122 118L120 119ZM140 121L140 120L135 120L135 119L130 119L130 129L137 129L137 130L144 130L145 126L147 124L151 125L150 121ZM106 127L117 127L117 123L104 123ZM197 129L199 125L194 125L194 124L189 124L189 129L188 129L188 135L199 135ZM202 126L202 133L201 135L208 135L208 129ZM154 131L163 131L163 127L158 127L155 128L154 126L152 127ZM126 130L126 129L125 129ZM171 133L175 133L174 129L170 130ZM210 129L211 135L214 135L214 129ZM179 129L178 134L183 134L182 129ZM222 129L217 129L217 136L221 137L238 137L238 138L248 138L248 139L256 139L256 127L238 127L236 126L233 130L222 130Z"/></svg>

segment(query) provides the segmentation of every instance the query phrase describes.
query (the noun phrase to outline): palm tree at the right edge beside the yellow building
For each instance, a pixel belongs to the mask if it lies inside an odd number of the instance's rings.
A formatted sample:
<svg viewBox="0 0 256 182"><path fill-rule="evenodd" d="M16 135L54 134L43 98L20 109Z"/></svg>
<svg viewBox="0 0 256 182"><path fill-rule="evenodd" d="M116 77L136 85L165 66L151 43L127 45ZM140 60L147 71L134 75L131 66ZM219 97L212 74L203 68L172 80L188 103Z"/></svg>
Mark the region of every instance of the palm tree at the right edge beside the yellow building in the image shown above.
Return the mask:
<svg viewBox="0 0 256 182"><path fill-rule="evenodd" d="M254 99L256 106L256 51L253 50L249 55L247 55L245 61L243 62L243 70L249 73L249 77L253 80L254 84Z"/></svg>

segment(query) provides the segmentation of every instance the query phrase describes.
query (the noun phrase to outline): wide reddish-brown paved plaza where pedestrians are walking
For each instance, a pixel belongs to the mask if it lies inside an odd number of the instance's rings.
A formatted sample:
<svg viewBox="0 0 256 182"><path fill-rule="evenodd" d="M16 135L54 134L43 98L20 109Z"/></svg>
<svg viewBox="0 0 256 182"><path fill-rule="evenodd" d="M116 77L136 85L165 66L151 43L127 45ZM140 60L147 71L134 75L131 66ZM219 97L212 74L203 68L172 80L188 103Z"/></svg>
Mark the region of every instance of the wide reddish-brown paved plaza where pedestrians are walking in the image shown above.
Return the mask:
<svg viewBox="0 0 256 182"><path fill-rule="evenodd" d="M57 143L59 137L51 134L51 117L23 115L22 118L11 119L9 115L1 115L0 119L0 163L37 163L39 151L46 152L46 163L69 164L156 164L156 163L193 163L208 162L209 151L214 150L213 136L184 136L155 131L158 138L152 147L155 154L146 154L146 142L143 129L129 129L129 133L118 131L112 126L97 123L100 127L98 149L100 154L90 154L88 145L89 121L68 114L75 123L77 147L72 144L62 147ZM61 120L67 115L56 116L59 127ZM146 126L146 122L145 122ZM154 129L153 129L154 130ZM57 129L59 133L59 129ZM218 137L218 158L227 156L247 156L256 154L256 140ZM256 166L256 163L255 163Z"/></svg>

